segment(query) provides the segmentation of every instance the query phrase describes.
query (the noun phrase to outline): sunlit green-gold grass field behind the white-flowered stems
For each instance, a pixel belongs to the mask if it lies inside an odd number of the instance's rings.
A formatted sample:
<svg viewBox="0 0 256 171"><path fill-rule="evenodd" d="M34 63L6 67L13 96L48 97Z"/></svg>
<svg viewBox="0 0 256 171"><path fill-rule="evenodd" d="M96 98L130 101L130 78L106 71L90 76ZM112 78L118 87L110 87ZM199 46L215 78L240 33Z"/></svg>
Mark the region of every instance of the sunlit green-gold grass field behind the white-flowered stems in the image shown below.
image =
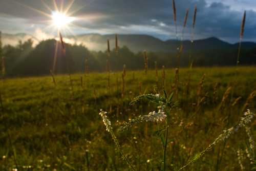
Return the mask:
<svg viewBox="0 0 256 171"><path fill-rule="evenodd" d="M129 103L140 94L163 95L163 87L168 94L175 92L173 100L178 102L168 115L166 148L166 170L178 170L222 130L236 124L246 109L255 111L256 100L247 100L256 90L255 73L255 67L181 68L178 79L174 69L166 69L163 83L160 69L158 80L155 70L147 75L127 70L124 82L121 72L110 74L110 88L106 73L74 74L72 81L69 75L57 75L56 86L51 76L4 79L0 170L129 170L105 131L98 115L100 109L109 112L123 153L134 168L160 170L159 137L164 132L158 130L164 124L138 123L123 133L118 132L118 127L124 121L156 111L153 103ZM255 124L251 124L252 133ZM250 170L254 164L246 157L248 145L249 138L241 129L185 170L240 170L240 161L245 170ZM239 149L244 152L244 160L238 160Z"/></svg>

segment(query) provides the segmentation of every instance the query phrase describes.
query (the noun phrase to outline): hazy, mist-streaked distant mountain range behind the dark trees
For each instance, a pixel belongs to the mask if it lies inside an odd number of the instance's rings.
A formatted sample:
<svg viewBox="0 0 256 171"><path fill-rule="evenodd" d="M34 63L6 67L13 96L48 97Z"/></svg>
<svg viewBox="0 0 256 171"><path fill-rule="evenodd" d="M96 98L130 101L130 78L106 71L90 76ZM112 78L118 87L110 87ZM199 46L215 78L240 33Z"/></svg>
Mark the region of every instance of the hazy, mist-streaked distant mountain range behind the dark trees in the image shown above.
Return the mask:
<svg viewBox="0 0 256 171"><path fill-rule="evenodd" d="M41 36L38 36L41 37ZM34 45L38 44L41 40L36 36L29 34L2 34L2 42L4 45L17 45L18 40L25 41L32 39ZM52 37L53 38L53 37ZM110 39L111 47L115 47L115 35L100 35L100 34L82 34L76 36L67 36L64 40L70 44L83 44L89 50L93 51L105 51L106 40ZM118 35L119 47L129 47L133 52L139 51L151 51L151 52L174 52L179 46L180 41L169 39L163 41L150 35L136 35L136 34L121 34ZM191 42L189 40L183 41L184 51L190 49ZM255 42L243 42L242 47L245 49L256 48ZM194 41L194 50L214 50L214 49L234 49L238 48L238 44L230 44L216 37L210 37L206 39L199 39Z"/></svg>

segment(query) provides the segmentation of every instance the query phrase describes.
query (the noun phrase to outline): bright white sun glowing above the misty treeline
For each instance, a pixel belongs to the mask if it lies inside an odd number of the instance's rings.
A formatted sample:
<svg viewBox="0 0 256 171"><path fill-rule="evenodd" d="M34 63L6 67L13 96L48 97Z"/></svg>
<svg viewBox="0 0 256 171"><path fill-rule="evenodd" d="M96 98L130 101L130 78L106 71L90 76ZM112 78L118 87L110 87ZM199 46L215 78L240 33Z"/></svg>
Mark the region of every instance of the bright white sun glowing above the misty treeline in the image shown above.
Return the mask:
<svg viewBox="0 0 256 171"><path fill-rule="evenodd" d="M59 30L67 27L70 23L76 20L75 17L67 16L66 14L60 13L58 11L52 12L51 17L52 17L52 24Z"/></svg>

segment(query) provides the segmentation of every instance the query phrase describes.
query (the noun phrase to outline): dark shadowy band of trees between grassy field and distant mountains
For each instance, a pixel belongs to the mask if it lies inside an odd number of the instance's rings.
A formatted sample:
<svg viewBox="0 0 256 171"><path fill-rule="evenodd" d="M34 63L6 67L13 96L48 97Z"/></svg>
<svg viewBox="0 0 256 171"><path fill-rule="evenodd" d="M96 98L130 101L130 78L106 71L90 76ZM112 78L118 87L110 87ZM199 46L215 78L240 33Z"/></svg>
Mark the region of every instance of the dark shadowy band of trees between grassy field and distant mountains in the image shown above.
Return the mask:
<svg viewBox="0 0 256 171"><path fill-rule="evenodd" d="M96 35L94 35L96 36ZM108 37L106 37L108 38ZM142 36L143 38L143 36ZM127 37L129 39L129 37ZM154 40L154 39L152 39ZM175 41L173 41L175 42ZM237 45L229 45L216 38L195 42L195 50L191 56L194 66L232 66L237 61ZM66 55L64 56L61 46L55 39L41 41L35 48L32 47L31 40L20 43L17 47L5 46L3 55L5 56L6 75L48 75L50 70L55 73L84 72L85 66L90 71L105 71L108 53L106 51L90 51L82 45L66 44ZM147 42L149 46L152 42ZM177 46L168 41L170 46ZM210 46L219 44L218 49L207 49ZM246 43L248 44L248 43ZM251 47L252 44L249 43ZM240 65L254 65L256 63L256 49L242 48ZM188 41L184 42L184 47L189 48ZM203 47L204 49L200 49ZM189 63L190 51L184 51L181 56L180 66L187 67ZM87 61L87 62L86 62ZM148 52L148 68L155 68L155 61L158 66L166 68L177 67L177 51L174 52ZM54 64L55 63L55 64ZM110 66L112 71L120 71L123 65L129 70L141 70L144 68L144 54L134 53L126 46L119 47L118 53L113 49L110 54Z"/></svg>

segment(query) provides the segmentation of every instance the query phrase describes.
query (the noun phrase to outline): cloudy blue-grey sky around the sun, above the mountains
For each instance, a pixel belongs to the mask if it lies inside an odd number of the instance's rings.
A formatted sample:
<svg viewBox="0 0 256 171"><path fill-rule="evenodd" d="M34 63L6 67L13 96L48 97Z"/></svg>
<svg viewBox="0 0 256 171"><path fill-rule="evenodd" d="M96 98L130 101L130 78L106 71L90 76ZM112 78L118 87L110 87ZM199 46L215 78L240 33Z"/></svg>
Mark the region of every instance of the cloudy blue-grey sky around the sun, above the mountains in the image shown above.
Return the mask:
<svg viewBox="0 0 256 171"><path fill-rule="evenodd" d="M55 0L58 9L67 9L76 20L64 34L148 34L176 39L172 0ZM73 3L72 3L73 2ZM63 5L61 5L63 4ZM229 42L239 40L241 20L246 10L244 40L256 41L256 1L254 0L176 0L178 37L186 9L188 24L184 38L191 37L195 5L198 13L195 39L218 37ZM0 0L0 30L3 33L27 33L50 36L56 11L54 0Z"/></svg>

